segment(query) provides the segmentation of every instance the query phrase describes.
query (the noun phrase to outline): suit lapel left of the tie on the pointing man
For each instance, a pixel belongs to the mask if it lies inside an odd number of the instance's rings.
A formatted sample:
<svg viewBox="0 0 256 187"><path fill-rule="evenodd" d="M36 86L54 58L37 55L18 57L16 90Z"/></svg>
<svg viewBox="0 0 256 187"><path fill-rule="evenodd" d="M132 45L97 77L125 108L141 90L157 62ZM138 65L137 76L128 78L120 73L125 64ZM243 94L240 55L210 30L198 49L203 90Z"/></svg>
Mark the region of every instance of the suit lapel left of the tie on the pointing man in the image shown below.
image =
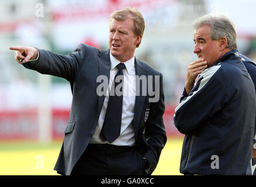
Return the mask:
<svg viewBox="0 0 256 187"><path fill-rule="evenodd" d="M98 62L99 62L99 75L105 75L109 81L109 75L110 75L109 49L100 51L97 58L98 58ZM98 85L99 84L101 84L101 82L99 82ZM101 113L105 95L106 95L106 93L104 93L102 96L99 96L98 113Z"/></svg>

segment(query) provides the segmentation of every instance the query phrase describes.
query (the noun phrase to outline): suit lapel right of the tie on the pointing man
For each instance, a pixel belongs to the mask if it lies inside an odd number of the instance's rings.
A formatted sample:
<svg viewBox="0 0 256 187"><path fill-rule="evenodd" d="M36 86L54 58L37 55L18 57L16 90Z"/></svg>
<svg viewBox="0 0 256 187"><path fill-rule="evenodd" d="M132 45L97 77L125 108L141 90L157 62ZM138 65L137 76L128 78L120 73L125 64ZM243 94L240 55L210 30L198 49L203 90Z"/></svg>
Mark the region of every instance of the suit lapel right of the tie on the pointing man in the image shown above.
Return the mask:
<svg viewBox="0 0 256 187"><path fill-rule="evenodd" d="M144 71L144 67L143 65L140 63L139 60L136 60L135 58L135 71L136 71L136 75L138 75L139 77L141 77L141 75L146 75L145 71ZM137 82L136 81L136 89L139 88L139 95L136 94L136 98L135 98L135 106L134 106L134 133L135 133L135 137L137 137L138 134L138 130L139 130L139 126L140 126L140 118L141 118L141 113L143 112L143 107L144 107L144 101L146 96L142 95L142 82ZM136 90L137 92L137 90Z"/></svg>

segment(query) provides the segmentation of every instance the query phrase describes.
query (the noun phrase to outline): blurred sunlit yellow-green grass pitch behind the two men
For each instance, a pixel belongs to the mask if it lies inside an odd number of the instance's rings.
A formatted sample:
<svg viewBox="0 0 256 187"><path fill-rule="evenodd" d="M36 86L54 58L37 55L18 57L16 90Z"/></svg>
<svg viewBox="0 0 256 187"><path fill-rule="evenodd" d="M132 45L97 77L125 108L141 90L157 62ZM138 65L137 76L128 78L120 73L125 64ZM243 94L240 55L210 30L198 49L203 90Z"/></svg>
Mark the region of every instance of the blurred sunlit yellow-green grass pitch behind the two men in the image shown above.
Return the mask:
<svg viewBox="0 0 256 187"><path fill-rule="evenodd" d="M183 138L168 137L153 175L181 175ZM1 141L0 175L58 175L53 170L61 141L39 144L32 141Z"/></svg>

